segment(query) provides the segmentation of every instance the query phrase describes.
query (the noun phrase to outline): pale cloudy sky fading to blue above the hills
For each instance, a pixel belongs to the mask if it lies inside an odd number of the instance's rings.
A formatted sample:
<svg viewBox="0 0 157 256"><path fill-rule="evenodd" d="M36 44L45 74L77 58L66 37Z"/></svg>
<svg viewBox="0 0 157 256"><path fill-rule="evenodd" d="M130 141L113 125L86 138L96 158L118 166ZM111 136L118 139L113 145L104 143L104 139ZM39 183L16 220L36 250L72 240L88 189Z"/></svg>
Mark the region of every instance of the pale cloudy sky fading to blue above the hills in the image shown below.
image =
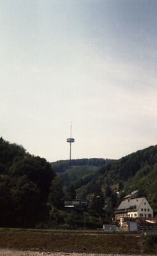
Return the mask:
<svg viewBox="0 0 157 256"><path fill-rule="evenodd" d="M157 144L156 0L0 0L0 136L50 162Z"/></svg>

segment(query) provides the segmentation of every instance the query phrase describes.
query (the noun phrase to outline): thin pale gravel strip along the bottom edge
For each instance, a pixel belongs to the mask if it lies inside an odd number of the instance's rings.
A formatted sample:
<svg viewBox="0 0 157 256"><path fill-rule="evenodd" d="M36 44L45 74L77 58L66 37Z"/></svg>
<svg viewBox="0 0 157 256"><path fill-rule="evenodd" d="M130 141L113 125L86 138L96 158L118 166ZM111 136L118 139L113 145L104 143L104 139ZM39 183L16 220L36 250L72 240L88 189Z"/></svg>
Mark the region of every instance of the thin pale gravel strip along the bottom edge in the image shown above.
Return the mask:
<svg viewBox="0 0 157 256"><path fill-rule="evenodd" d="M0 256L134 256L135 254L118 254L118 253L52 253L52 252L35 252L35 251L17 251L17 250L10 250L10 249L1 249L0 248ZM148 256L144 255L135 255L135 256ZM151 255L156 256L156 255Z"/></svg>

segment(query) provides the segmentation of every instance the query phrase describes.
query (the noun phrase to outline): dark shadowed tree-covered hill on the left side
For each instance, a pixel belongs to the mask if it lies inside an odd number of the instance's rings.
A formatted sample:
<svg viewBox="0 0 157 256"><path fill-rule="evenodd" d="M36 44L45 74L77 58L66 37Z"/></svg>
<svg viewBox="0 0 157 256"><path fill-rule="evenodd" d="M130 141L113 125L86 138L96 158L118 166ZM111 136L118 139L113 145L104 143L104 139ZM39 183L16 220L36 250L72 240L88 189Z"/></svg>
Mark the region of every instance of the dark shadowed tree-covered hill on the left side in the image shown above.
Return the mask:
<svg viewBox="0 0 157 256"><path fill-rule="evenodd" d="M49 216L55 173L45 158L0 138L0 225L36 226Z"/></svg>

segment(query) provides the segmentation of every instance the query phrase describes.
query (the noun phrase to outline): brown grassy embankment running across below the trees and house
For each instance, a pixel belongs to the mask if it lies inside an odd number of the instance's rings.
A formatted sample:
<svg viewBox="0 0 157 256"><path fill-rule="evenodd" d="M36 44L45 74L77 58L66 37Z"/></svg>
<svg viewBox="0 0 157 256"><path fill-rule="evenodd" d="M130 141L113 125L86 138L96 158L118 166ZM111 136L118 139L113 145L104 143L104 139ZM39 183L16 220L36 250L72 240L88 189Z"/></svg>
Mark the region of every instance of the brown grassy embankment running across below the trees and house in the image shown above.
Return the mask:
<svg viewBox="0 0 157 256"><path fill-rule="evenodd" d="M37 252L157 254L156 239L151 237L94 231L1 228L0 248Z"/></svg>

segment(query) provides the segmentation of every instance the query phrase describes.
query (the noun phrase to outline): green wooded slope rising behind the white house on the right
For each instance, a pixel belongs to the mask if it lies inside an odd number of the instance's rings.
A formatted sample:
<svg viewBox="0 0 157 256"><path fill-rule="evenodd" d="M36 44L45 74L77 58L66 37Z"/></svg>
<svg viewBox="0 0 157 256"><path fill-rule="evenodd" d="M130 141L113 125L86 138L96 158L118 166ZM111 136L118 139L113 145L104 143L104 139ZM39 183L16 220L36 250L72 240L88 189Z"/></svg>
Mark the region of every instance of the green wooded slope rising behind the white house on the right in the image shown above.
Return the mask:
<svg viewBox="0 0 157 256"><path fill-rule="evenodd" d="M112 187L114 184L119 184L117 189L123 196L123 191L128 194L128 192L139 189L140 196L142 194L147 196L150 203L152 201L155 206L153 194L156 194L156 178L157 146L151 146L119 160L112 160L112 162L100 167L91 182L88 183L87 194L91 192L91 188L94 187L95 189L96 184L99 187L104 185Z"/></svg>

